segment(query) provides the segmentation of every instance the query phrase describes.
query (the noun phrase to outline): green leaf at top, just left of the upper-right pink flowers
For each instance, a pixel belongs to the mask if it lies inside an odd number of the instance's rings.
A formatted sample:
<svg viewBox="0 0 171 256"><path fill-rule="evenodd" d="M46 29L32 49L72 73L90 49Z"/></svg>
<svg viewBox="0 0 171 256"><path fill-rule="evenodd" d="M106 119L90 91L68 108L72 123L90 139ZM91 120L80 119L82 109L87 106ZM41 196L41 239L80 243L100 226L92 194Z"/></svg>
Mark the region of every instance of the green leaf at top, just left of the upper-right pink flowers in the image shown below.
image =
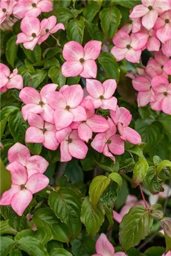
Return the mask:
<svg viewBox="0 0 171 256"><path fill-rule="evenodd" d="M101 26L107 37L111 39L120 24L121 13L115 6L104 8L100 11Z"/></svg>

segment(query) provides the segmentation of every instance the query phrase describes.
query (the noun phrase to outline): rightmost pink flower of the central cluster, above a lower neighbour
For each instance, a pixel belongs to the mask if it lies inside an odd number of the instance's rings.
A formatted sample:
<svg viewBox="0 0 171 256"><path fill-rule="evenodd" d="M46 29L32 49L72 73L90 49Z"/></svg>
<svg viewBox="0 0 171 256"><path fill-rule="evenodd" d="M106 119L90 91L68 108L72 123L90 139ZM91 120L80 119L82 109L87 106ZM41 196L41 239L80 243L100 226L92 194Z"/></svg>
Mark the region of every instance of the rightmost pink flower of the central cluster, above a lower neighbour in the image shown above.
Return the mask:
<svg viewBox="0 0 171 256"><path fill-rule="evenodd" d="M142 142L139 133L129 127L132 115L125 107L117 106L115 112L110 111L110 116L119 130L121 139L127 140L132 144L140 144Z"/></svg>

